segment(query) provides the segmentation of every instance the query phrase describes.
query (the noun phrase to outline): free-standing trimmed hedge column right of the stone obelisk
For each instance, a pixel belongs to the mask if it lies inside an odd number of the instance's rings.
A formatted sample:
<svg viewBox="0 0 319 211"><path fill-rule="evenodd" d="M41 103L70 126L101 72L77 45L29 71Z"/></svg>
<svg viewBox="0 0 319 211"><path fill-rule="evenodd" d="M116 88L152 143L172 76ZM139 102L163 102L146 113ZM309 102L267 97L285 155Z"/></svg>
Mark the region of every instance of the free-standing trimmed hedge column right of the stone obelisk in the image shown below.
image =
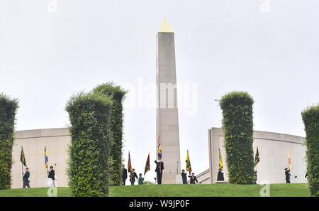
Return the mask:
<svg viewBox="0 0 319 211"><path fill-rule="evenodd" d="M253 103L254 100L247 92L230 92L220 100L230 183L254 183Z"/></svg>

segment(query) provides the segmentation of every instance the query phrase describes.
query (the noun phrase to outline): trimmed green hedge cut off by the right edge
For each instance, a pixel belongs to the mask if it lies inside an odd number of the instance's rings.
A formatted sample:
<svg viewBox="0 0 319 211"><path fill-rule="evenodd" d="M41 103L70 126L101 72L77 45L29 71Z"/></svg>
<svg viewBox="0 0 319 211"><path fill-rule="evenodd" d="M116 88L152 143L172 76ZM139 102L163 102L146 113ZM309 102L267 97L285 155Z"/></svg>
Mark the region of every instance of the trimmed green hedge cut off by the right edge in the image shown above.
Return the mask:
<svg viewBox="0 0 319 211"><path fill-rule="evenodd" d="M312 196L319 196L319 104L301 113L306 131L307 173Z"/></svg>

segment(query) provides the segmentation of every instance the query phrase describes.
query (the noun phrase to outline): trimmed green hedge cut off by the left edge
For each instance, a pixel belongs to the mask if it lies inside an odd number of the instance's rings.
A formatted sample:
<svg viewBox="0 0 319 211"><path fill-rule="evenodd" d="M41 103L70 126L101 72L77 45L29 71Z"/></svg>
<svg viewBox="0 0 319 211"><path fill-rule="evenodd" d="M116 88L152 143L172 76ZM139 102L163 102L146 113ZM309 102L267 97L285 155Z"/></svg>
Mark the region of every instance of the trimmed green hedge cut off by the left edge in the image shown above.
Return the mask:
<svg viewBox="0 0 319 211"><path fill-rule="evenodd" d="M0 93L0 189L11 188L12 147L18 100Z"/></svg>

